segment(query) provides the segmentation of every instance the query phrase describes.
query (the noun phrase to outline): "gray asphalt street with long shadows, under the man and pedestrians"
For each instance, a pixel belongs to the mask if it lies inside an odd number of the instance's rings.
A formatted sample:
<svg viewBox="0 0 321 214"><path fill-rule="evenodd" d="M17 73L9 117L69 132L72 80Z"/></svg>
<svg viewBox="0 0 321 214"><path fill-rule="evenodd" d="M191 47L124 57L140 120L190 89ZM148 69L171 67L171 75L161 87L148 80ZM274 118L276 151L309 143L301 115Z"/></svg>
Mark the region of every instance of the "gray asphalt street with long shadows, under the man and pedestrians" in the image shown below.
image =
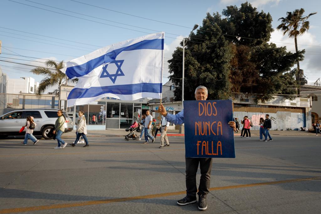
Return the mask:
<svg viewBox="0 0 321 214"><path fill-rule="evenodd" d="M184 137L162 149L159 138L96 136L61 150L53 140L21 141L0 140L0 213L199 212L176 203L186 190ZM236 158L213 160L204 212L320 213L320 136L235 136L235 148Z"/></svg>

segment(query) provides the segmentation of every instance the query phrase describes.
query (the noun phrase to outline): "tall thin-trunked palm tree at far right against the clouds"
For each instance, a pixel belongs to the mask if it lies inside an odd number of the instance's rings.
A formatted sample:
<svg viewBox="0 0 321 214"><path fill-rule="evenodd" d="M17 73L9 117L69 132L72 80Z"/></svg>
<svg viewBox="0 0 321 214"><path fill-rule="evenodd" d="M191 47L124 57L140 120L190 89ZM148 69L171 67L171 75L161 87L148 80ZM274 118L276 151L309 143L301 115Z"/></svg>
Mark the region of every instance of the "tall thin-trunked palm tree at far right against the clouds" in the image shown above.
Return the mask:
<svg viewBox="0 0 321 214"><path fill-rule="evenodd" d="M316 13L310 13L308 16L304 16L304 9L296 9L293 12L286 12L287 16L281 17L278 21L281 20L281 24L276 28L283 31L283 35L288 33L290 38L294 37L295 51L298 53L298 42L297 36L304 34L309 30L309 21L308 18ZM298 69L296 74L296 80L299 81L300 85L304 85L306 80L303 77L303 72L300 70L299 60L297 61Z"/></svg>

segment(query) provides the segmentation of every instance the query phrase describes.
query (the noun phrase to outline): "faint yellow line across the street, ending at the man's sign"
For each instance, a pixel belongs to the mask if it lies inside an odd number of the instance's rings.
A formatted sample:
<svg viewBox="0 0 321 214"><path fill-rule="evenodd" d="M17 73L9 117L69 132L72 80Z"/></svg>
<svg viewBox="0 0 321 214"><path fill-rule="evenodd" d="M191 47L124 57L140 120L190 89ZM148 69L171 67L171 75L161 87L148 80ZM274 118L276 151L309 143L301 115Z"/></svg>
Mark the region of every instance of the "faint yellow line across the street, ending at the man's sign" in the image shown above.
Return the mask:
<svg viewBox="0 0 321 214"><path fill-rule="evenodd" d="M105 154L105 153L128 153L128 152L164 152L164 151L183 151L185 149L179 150L130 150L130 151L102 151L102 152L69 152L69 153L41 153L41 154L14 154L14 155L0 155L1 157L11 157L11 156L38 156L38 155L85 155L85 154Z"/></svg>

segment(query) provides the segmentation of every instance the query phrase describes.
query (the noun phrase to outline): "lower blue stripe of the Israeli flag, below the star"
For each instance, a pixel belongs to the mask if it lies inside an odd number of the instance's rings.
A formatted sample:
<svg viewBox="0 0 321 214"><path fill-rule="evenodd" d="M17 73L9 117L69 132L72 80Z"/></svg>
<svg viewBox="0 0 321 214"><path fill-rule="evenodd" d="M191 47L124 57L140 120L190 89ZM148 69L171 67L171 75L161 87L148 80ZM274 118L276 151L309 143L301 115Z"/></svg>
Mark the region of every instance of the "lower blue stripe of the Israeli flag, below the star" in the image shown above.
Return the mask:
<svg viewBox="0 0 321 214"><path fill-rule="evenodd" d="M137 83L128 85L111 85L90 87L88 89L74 88L70 91L68 99L91 98L102 94L130 95L140 92L161 93L161 83Z"/></svg>

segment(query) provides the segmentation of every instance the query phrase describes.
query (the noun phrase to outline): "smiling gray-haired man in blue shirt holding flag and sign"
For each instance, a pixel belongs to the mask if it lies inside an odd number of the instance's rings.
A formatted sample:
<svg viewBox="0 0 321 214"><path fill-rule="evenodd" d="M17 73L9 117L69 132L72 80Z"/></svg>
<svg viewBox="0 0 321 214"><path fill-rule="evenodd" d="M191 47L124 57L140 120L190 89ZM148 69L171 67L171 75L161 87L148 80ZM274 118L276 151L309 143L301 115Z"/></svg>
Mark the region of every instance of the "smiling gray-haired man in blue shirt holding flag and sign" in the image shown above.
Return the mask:
<svg viewBox="0 0 321 214"><path fill-rule="evenodd" d="M206 100L208 96L208 91L205 86L198 86L195 90L195 99L196 100ZM165 110L165 107L161 104L158 111L161 115L165 116L167 121L174 124L183 124L184 123L184 109L179 112L177 115L168 114ZM228 123L234 131L236 131L235 122L230 121ZM195 129L196 130L196 129ZM196 131L195 131L196 132ZM185 157L186 162L186 197L178 200L177 204L180 206L187 205L190 203L196 202L196 172L198 165L200 165L201 179L198 187L198 209L206 210L206 195L209 193L210 181L211 181L211 170L212 170L212 158L188 158Z"/></svg>

